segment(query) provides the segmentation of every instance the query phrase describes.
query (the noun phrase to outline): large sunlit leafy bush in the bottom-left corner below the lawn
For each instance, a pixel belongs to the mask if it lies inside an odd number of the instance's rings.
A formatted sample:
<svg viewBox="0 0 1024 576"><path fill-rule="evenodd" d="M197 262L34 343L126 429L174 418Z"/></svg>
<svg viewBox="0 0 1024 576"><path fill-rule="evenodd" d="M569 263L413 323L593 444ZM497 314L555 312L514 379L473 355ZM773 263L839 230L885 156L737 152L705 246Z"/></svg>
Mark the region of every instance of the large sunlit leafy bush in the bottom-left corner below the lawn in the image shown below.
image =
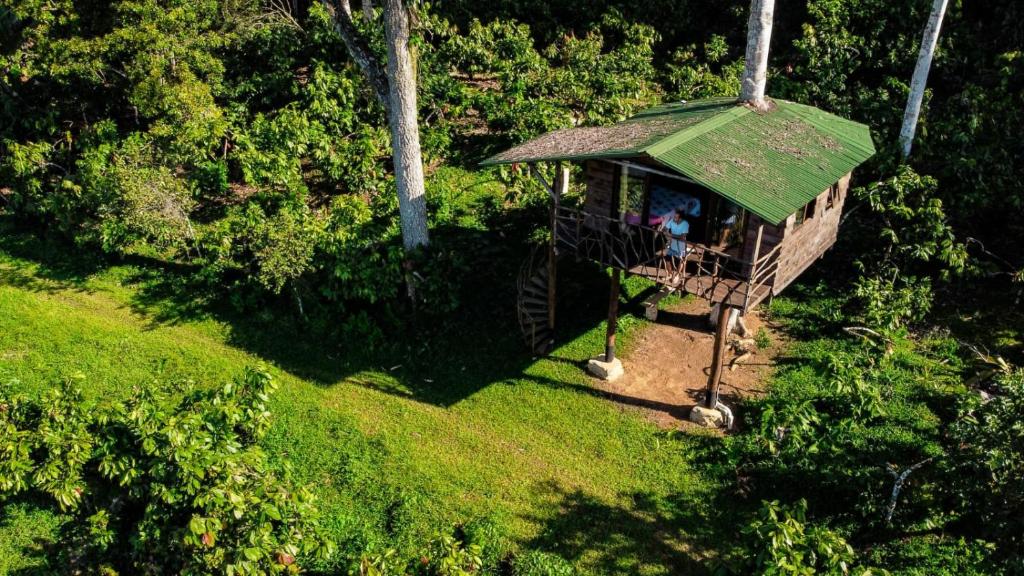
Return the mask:
<svg viewBox="0 0 1024 576"><path fill-rule="evenodd" d="M0 390L0 496L44 494L69 513L69 573L296 573L324 556L316 512L256 445L269 375L249 370L168 407L148 389L88 406L66 383L34 401Z"/></svg>

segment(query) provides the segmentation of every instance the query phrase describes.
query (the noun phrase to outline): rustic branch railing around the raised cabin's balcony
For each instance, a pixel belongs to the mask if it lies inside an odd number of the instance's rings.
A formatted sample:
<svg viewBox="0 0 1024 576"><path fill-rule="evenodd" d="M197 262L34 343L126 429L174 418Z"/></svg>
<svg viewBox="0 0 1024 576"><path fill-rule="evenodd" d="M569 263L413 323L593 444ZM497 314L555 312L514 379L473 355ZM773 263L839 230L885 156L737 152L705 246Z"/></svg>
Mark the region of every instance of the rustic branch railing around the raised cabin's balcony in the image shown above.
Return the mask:
<svg viewBox="0 0 1024 576"><path fill-rule="evenodd" d="M654 227L630 224L583 210L558 207L554 214L556 249L601 264L643 276L658 284L696 294L713 302L746 310L770 290L778 271L776 246L750 262L686 242L686 254L669 255L673 239Z"/></svg>

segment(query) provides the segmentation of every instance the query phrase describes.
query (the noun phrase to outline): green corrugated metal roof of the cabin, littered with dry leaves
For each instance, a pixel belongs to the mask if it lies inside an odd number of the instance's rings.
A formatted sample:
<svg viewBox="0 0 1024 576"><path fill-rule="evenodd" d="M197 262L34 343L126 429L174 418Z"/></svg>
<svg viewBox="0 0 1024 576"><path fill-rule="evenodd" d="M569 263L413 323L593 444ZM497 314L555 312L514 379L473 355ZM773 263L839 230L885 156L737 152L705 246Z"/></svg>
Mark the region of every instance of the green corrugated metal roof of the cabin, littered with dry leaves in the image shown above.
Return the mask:
<svg viewBox="0 0 1024 576"><path fill-rule="evenodd" d="M765 113L735 98L663 105L611 126L549 132L483 164L646 157L778 223L870 158L874 145L863 124L771 104Z"/></svg>

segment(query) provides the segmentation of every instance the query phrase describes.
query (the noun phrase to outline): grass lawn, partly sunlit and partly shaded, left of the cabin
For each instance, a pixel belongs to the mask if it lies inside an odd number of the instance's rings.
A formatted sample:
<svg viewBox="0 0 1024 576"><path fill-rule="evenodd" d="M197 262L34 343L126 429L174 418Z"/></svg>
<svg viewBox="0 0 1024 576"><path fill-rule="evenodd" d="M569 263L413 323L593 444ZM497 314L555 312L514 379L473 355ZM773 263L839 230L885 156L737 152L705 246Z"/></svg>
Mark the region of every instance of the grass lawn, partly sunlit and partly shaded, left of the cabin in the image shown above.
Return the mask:
<svg viewBox="0 0 1024 576"><path fill-rule="evenodd" d="M717 441L662 433L584 375L603 337L595 271L566 275L549 358L519 340L514 266L444 326L370 346L322 340L276 313L233 313L174 284L166 265L53 256L0 225L0 381L39 393L81 373L101 402L268 365L281 388L267 448L318 494L342 550L411 554L437 531L488 519L512 545L586 572L679 573L712 553L701 502L715 483L693 465ZM627 284L627 296L641 288ZM627 351L642 324L624 319ZM31 503L2 508L0 574L37 563L35 542L58 522Z"/></svg>

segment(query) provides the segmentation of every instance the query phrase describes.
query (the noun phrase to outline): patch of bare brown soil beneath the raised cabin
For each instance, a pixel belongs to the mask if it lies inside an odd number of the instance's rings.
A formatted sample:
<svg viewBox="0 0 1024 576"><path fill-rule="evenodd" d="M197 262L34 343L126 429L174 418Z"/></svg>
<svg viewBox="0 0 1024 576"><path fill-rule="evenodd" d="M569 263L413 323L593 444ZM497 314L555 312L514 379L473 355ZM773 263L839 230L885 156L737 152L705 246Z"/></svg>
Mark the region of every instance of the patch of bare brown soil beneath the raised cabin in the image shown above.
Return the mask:
<svg viewBox="0 0 1024 576"><path fill-rule="evenodd" d="M599 381L598 386L614 402L642 411L659 427L699 428L687 418L690 409L703 399L711 372L715 333L708 322L710 311L708 302L693 298L660 311L657 321L645 328L624 355L626 374L614 382ZM749 333L740 347L753 354L732 367L739 354L733 347L726 349L720 392L722 401L733 408L737 422L736 400L764 392L782 347L780 334L758 313L749 313L743 320ZM754 335L761 329L771 342L764 348L754 343ZM729 338L732 342L740 339L735 333Z"/></svg>

